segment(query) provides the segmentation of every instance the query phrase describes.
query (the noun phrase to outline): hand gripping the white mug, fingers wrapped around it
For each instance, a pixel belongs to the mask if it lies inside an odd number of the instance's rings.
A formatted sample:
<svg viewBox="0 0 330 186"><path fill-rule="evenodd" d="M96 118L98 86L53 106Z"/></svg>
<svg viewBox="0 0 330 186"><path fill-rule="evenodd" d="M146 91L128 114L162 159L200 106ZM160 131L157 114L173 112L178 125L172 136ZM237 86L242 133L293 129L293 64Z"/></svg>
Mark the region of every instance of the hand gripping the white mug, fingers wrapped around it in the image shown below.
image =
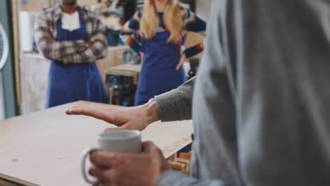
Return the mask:
<svg viewBox="0 0 330 186"><path fill-rule="evenodd" d="M93 151L90 175L100 180L97 186L154 186L169 171L169 163L152 142L142 144L142 154Z"/></svg>

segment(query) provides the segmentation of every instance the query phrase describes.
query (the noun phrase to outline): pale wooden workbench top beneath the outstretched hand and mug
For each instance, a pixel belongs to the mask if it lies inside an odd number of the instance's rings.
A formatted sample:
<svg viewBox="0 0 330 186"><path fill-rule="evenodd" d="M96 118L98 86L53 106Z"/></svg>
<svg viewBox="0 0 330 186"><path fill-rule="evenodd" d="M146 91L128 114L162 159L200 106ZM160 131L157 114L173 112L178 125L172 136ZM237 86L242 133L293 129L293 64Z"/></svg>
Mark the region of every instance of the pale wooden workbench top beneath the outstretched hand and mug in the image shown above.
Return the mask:
<svg viewBox="0 0 330 186"><path fill-rule="evenodd" d="M67 116L78 101L0 121L0 185L87 185L80 176L80 154L96 145L96 135L114 127L87 116ZM191 142L191 121L149 125L142 140L152 140L168 158Z"/></svg>

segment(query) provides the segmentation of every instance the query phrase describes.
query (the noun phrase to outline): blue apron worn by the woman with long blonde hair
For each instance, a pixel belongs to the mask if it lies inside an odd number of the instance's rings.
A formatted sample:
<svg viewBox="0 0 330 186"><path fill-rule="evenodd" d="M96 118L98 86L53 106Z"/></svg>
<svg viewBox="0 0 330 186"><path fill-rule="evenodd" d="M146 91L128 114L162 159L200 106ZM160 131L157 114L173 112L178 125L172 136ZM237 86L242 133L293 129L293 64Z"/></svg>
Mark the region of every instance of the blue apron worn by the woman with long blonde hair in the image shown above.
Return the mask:
<svg viewBox="0 0 330 186"><path fill-rule="evenodd" d="M152 39L142 39L144 56L135 93L135 106L176 89L187 80L183 67L176 70L181 57L181 46L167 43L170 35L169 31L165 31L158 32Z"/></svg>

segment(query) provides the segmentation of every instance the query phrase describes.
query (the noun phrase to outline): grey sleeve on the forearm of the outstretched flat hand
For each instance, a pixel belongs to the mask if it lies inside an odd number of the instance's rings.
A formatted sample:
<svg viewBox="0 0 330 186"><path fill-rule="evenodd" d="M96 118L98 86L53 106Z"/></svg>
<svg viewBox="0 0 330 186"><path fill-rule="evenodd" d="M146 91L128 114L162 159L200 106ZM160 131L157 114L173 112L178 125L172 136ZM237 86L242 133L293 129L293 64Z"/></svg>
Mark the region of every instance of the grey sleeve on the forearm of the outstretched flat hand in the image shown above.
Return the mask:
<svg viewBox="0 0 330 186"><path fill-rule="evenodd" d="M155 97L161 121L190 120L195 78L177 89Z"/></svg>

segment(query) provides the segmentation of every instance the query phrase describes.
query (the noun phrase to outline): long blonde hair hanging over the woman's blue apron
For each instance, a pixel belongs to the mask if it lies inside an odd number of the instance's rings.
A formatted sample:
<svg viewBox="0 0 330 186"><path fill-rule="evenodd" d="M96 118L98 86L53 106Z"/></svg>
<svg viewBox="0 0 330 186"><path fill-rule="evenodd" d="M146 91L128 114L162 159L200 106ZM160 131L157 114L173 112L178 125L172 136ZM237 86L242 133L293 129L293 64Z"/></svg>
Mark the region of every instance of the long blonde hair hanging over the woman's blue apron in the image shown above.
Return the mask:
<svg viewBox="0 0 330 186"><path fill-rule="evenodd" d="M147 39L154 37L159 27L159 16L154 1L145 0L145 6L142 11L140 31ZM183 28L181 4L178 0L168 0L164 12L164 23L171 32L167 42L177 44L181 40L181 31Z"/></svg>

